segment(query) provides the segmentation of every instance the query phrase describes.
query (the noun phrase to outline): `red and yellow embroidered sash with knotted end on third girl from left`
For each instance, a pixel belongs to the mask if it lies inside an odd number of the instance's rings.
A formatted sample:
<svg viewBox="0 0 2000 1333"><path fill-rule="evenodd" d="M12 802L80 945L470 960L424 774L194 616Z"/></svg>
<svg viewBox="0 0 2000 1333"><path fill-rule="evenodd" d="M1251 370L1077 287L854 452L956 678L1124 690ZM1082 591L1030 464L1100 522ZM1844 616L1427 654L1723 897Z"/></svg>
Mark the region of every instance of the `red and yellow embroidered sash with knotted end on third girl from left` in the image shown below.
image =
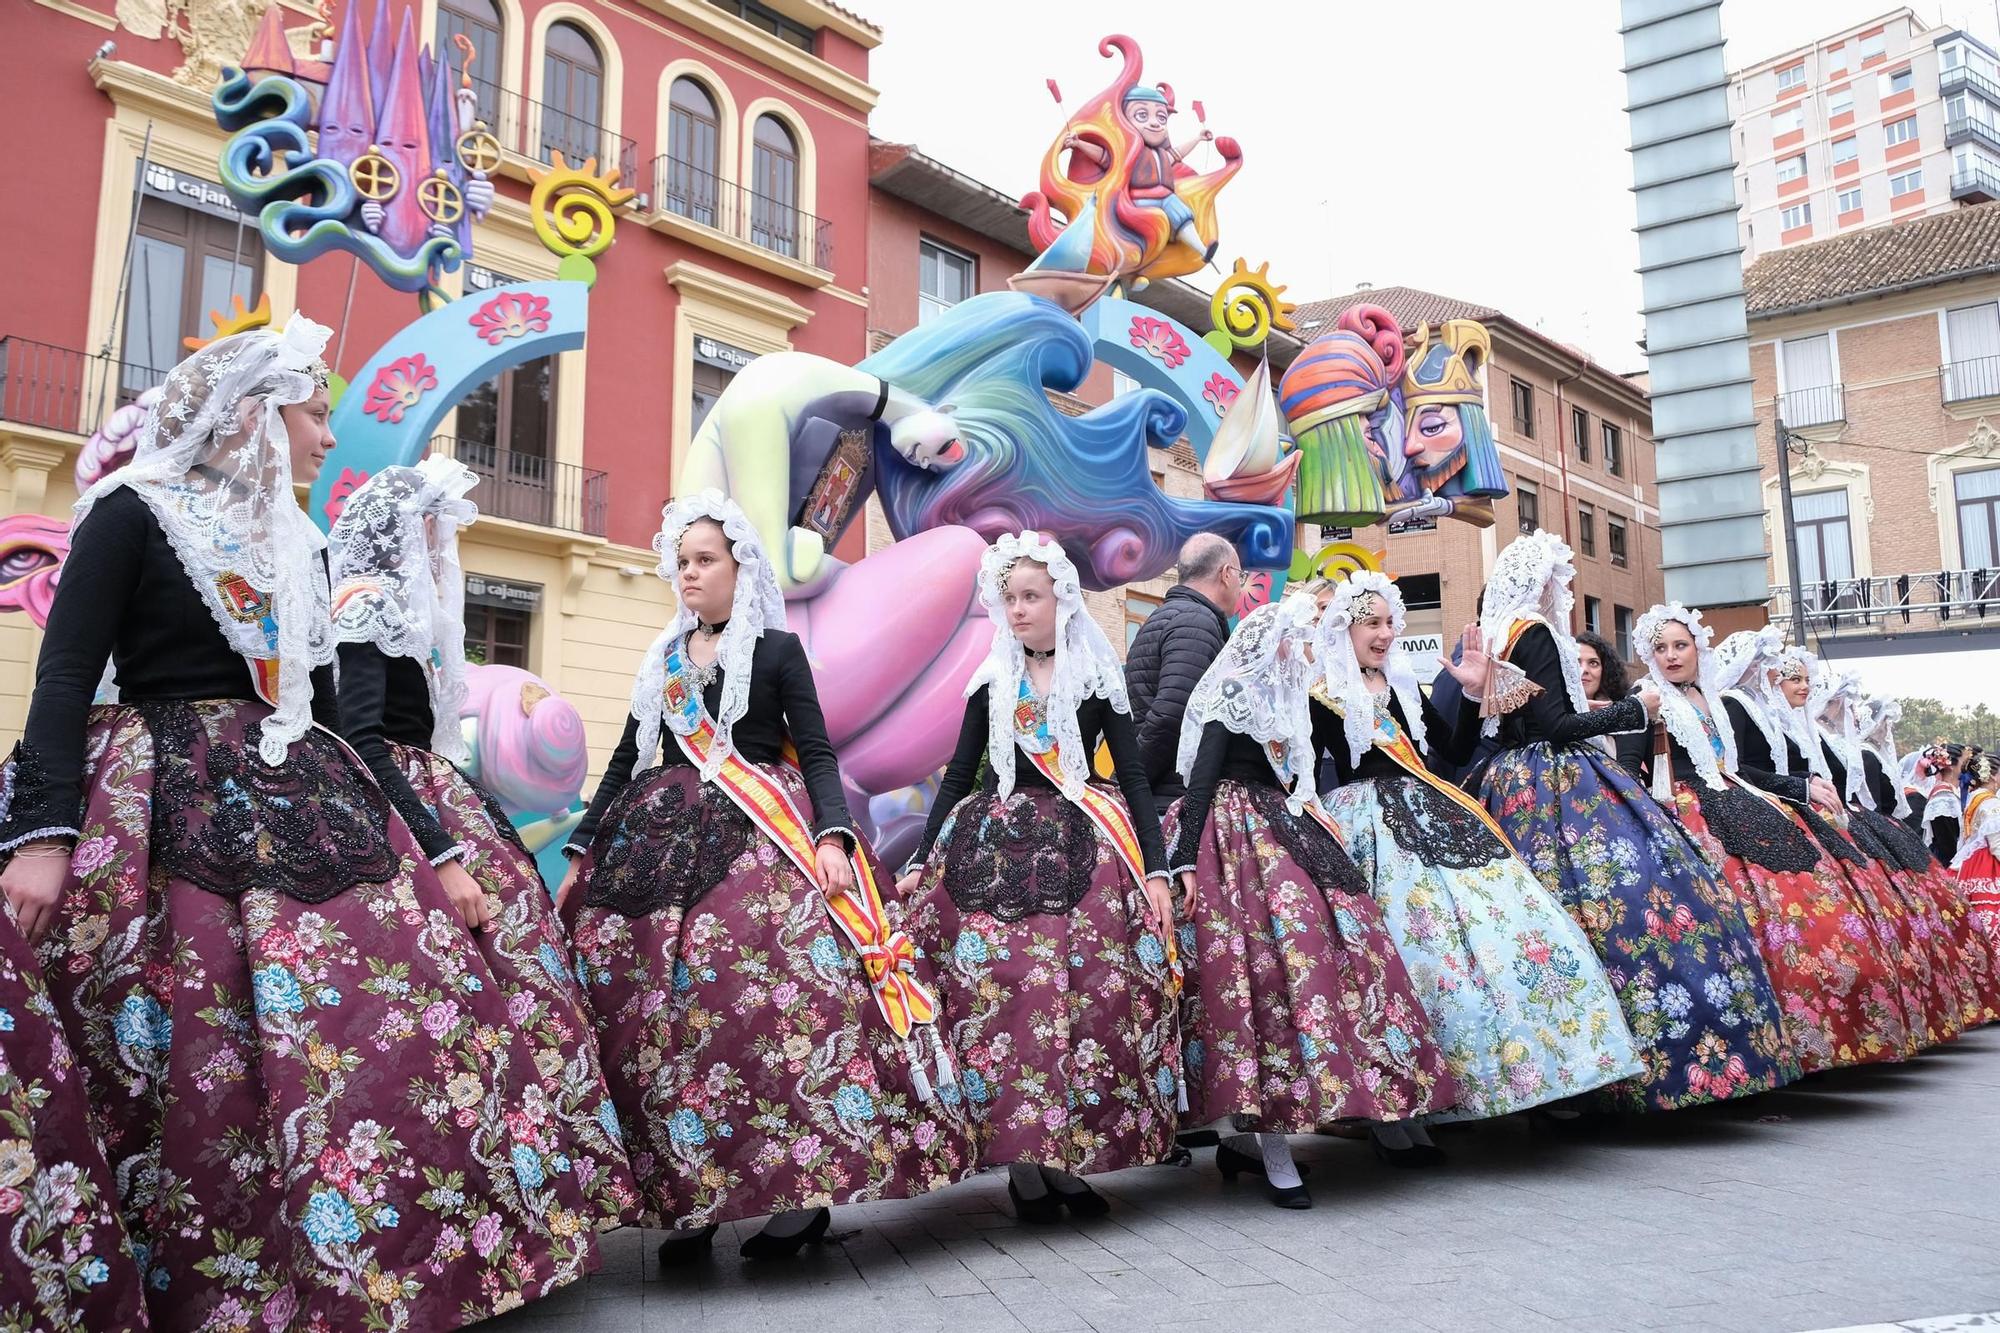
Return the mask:
<svg viewBox="0 0 2000 1333"><path fill-rule="evenodd" d="M700 769L714 749L716 725L702 709L700 693L688 685L690 675L680 646L668 650L666 707L694 725L690 735L676 731L674 741L680 743L680 753L688 757L688 763ZM778 779L730 753L714 783L778 851L792 859L792 865L808 881L820 881L814 861L818 839L812 837L812 825L798 813L792 795L778 785ZM848 861L854 867L854 887L846 893L824 895L826 915L834 919L840 933L854 945L854 953L860 955L876 1007L890 1029L898 1037L908 1037L910 1029L938 1017L938 1003L916 979L916 945L888 919L874 863L868 857L850 857Z"/></svg>

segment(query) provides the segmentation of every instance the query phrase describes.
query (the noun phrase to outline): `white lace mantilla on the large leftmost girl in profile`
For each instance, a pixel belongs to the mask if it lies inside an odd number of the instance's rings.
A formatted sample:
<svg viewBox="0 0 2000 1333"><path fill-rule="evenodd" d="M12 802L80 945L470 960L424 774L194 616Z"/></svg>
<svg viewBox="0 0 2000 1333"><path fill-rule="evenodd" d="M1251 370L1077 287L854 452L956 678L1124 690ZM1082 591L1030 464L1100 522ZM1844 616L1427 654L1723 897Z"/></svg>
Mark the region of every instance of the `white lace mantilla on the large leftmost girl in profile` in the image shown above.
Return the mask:
<svg viewBox="0 0 2000 1333"><path fill-rule="evenodd" d="M204 346L166 376L132 462L76 500L74 534L98 500L126 486L152 510L222 638L246 658L272 660L278 701L258 755L284 763L312 725L312 669L334 660L326 536L292 494L292 440L280 408L312 396L312 366L332 330L292 314L284 332L258 328ZM242 578L268 598L262 618L232 612L222 584Z"/></svg>

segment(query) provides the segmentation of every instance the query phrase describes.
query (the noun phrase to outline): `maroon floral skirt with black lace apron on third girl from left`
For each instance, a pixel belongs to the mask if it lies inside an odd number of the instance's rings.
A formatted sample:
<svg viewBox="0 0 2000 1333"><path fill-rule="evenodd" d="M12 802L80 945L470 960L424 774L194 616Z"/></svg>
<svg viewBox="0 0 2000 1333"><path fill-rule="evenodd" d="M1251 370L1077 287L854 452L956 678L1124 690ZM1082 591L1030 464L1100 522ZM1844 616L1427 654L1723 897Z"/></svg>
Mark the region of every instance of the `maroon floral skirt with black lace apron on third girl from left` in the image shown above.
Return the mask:
<svg viewBox="0 0 2000 1333"><path fill-rule="evenodd" d="M770 773L812 809L796 771ZM906 1199L972 1169L820 889L694 769L634 775L564 919L646 1225Z"/></svg>

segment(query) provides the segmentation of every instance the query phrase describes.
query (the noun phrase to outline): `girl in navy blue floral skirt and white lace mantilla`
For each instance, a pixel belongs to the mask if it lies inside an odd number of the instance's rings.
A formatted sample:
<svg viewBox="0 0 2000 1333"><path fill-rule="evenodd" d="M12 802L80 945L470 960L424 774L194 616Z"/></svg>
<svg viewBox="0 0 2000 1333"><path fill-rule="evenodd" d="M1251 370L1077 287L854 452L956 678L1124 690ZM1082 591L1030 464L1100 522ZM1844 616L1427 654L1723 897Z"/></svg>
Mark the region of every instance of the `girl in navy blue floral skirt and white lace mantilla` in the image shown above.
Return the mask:
<svg viewBox="0 0 2000 1333"><path fill-rule="evenodd" d="M1536 530L1500 552L1480 634L1494 660L1484 727L1502 745L1486 809L1542 887L1584 927L1640 1043L1612 1105L1674 1109L1798 1077L1770 977L1734 895L1646 789L1586 745L1640 731L1658 687L1590 711L1570 636L1570 548Z"/></svg>

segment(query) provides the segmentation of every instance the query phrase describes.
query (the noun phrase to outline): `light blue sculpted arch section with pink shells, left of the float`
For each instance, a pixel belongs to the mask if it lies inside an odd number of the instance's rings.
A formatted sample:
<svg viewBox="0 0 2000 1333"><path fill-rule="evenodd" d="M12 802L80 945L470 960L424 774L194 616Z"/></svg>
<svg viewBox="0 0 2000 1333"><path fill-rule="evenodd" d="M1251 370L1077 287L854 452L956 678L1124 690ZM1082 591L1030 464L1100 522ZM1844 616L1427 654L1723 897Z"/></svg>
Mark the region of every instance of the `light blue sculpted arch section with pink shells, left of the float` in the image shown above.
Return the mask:
<svg viewBox="0 0 2000 1333"><path fill-rule="evenodd" d="M590 286L552 280L466 296L404 324L334 408L340 444L312 484L306 512L330 528L328 502L386 466L422 458L444 414L492 376L580 348L588 316Z"/></svg>

